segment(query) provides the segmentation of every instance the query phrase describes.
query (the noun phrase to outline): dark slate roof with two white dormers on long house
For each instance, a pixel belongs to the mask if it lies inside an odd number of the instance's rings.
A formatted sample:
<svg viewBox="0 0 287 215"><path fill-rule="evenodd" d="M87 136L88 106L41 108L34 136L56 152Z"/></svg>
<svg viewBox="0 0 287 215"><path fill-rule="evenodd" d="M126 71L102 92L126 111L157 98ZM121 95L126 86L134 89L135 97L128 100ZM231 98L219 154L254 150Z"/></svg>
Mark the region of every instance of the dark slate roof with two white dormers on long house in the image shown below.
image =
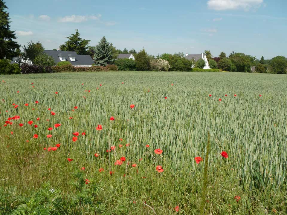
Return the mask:
<svg viewBox="0 0 287 215"><path fill-rule="evenodd" d="M70 62L72 65L93 65L94 61L89 55L78 55L76 52L72 51L53 51L53 50L44 50L49 56L54 58L55 63L61 62L59 56L65 56L66 61ZM76 61L71 61L69 56L76 57Z"/></svg>

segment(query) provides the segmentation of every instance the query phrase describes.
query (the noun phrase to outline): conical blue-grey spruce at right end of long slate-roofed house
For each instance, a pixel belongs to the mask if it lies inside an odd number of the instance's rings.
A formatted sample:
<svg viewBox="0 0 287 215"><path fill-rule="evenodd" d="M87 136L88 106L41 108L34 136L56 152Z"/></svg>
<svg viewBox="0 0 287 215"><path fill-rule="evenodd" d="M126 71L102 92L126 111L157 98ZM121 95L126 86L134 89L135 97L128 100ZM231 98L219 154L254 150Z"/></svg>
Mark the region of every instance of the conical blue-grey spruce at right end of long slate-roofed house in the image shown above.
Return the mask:
<svg viewBox="0 0 287 215"><path fill-rule="evenodd" d="M94 62L96 66L106 66L114 63L115 59L113 59L112 55L113 44L109 43L106 37L103 36L95 48Z"/></svg>

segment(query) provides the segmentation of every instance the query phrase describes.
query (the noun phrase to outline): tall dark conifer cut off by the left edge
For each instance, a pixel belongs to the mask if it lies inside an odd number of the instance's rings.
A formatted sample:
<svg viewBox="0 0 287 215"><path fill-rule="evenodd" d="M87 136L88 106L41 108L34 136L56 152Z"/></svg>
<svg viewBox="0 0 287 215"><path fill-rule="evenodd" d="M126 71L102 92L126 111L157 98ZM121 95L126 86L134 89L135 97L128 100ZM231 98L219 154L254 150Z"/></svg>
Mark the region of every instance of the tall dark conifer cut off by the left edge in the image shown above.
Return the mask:
<svg viewBox="0 0 287 215"><path fill-rule="evenodd" d="M20 48L19 44L13 39L17 39L15 31L10 30L9 13L4 11L8 9L4 2L0 0L0 59L12 59L18 56L16 49Z"/></svg>

